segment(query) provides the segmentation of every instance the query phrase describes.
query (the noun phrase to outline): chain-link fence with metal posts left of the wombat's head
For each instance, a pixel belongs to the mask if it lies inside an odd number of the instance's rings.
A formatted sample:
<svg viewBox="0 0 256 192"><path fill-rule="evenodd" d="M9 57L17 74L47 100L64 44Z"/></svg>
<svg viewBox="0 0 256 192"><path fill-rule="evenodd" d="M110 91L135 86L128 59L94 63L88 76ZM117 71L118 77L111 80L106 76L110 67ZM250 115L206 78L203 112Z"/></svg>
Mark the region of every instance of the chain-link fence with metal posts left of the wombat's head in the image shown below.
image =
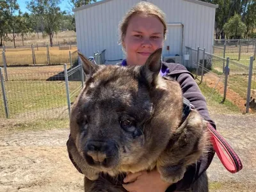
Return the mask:
<svg viewBox="0 0 256 192"><path fill-rule="evenodd" d="M81 65L1 68L0 118L67 118L83 85ZM67 93L70 93L67 94ZM70 102L71 101L71 102Z"/></svg>

